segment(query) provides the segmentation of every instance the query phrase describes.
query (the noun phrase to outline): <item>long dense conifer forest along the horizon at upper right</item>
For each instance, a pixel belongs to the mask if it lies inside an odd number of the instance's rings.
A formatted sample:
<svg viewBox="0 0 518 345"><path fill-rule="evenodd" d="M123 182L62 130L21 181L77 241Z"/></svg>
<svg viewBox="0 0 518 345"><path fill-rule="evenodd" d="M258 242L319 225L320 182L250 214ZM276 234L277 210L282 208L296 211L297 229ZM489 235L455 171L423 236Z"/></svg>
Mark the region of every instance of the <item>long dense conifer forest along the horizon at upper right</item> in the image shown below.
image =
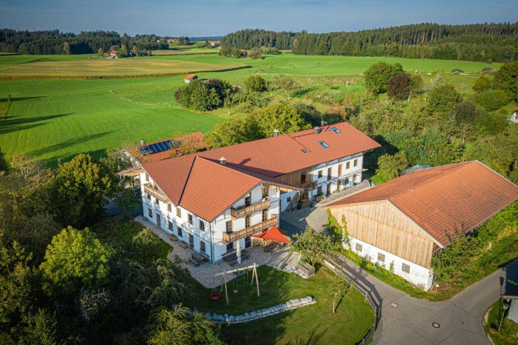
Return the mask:
<svg viewBox="0 0 518 345"><path fill-rule="evenodd" d="M310 34L246 29L227 34L222 46L276 47L299 55L397 56L411 59L510 62L518 56L518 22L410 24Z"/></svg>

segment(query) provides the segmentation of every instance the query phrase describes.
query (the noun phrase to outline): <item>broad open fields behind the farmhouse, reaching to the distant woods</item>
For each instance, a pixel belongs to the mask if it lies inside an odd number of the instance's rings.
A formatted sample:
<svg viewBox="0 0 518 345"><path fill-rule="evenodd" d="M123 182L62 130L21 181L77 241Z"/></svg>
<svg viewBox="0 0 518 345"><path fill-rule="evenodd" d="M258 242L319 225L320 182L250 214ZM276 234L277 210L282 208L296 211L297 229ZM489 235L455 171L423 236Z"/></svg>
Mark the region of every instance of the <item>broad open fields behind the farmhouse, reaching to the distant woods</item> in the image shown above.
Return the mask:
<svg viewBox="0 0 518 345"><path fill-rule="evenodd" d="M325 91L340 100L346 94L363 90L362 79L357 74L380 60L398 62L405 70L425 73L450 72L453 68L476 72L484 67L500 66L466 61L292 54L268 55L262 60L234 59L215 54L116 60L89 59L89 56L92 55L0 56L0 66L4 66L0 67L0 78L6 77L6 71L10 71L11 76L23 71L24 78L70 73L63 65L73 66L73 73L79 78L88 78L95 73L92 72L95 64L104 66L102 73L106 76L123 75L124 78L152 74L156 70L166 73L167 66L176 68L175 73L186 73L193 66L214 70L247 65L250 67L224 72L205 71L197 75L202 79L219 78L238 84L242 84L250 73L262 73L266 79L274 79L279 74L292 75L303 89L291 102L302 102L303 97L312 92ZM142 66L154 66L149 68L155 69L142 70ZM355 80L355 84L346 89L342 80L348 76ZM424 74L423 78L427 80L430 76ZM470 91L476 78L447 75L447 79L463 94ZM183 75L139 79L0 80L0 119L3 119L0 120L0 148L8 158L13 154L27 153L55 166L58 159L68 160L80 152L100 157L106 149L116 147L121 141L153 141L194 131L207 133L215 123L227 117L223 108L209 113L181 108L174 99L174 92L183 84ZM9 94L12 103L5 116ZM278 91L273 96L276 97L274 99L285 100ZM240 106L236 106L231 116L242 111Z"/></svg>

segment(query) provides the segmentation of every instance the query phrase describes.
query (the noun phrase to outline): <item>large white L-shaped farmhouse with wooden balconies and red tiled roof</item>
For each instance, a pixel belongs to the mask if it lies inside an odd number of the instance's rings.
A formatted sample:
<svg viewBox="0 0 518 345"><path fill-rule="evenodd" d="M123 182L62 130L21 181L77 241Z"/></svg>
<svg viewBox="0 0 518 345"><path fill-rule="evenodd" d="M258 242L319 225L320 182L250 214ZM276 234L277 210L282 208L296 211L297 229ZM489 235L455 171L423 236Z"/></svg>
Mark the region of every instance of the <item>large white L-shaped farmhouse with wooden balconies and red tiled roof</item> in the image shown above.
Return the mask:
<svg viewBox="0 0 518 345"><path fill-rule="evenodd" d="M299 198L309 203L361 181L363 154L379 146L342 122L172 158L152 153L120 174L140 175L145 217L217 262L237 241L251 247L250 235L278 226Z"/></svg>

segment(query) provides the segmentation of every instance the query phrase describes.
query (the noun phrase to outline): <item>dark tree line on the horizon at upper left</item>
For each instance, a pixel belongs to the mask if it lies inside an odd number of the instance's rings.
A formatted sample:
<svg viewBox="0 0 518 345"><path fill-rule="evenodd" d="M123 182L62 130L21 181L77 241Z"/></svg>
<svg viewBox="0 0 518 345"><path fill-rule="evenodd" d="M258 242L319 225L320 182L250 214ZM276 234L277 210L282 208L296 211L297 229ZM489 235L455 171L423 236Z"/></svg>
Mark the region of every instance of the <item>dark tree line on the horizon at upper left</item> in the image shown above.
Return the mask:
<svg viewBox="0 0 518 345"><path fill-rule="evenodd" d="M59 30L16 31L0 30L0 51L20 54L89 54L99 49L104 52L117 50L122 46L141 50L169 49L167 41L160 36L122 36L114 31L82 31L79 34L63 33Z"/></svg>

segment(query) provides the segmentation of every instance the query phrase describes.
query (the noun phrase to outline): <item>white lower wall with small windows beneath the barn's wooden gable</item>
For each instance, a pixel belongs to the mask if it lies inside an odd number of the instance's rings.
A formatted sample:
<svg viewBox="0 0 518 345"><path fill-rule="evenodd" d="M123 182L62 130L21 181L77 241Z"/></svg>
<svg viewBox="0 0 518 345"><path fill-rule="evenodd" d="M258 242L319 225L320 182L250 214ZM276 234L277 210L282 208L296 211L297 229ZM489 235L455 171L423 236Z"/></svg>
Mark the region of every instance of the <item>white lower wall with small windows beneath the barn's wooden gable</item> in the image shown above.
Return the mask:
<svg viewBox="0 0 518 345"><path fill-rule="evenodd" d="M351 243L351 250L356 252L358 255L363 257L367 256L370 262L378 263L379 265L384 266L386 269L390 269L391 262L394 262L394 273L396 275L408 280L412 284L422 286L424 290L430 289L433 283L433 273L431 269L414 264L413 262L405 260L402 257L386 252L352 236L349 236L349 239ZM347 247L345 241L343 241L342 245L344 248ZM384 262L379 260L378 254L380 253L385 256ZM410 272L403 271L403 264L409 266Z"/></svg>

